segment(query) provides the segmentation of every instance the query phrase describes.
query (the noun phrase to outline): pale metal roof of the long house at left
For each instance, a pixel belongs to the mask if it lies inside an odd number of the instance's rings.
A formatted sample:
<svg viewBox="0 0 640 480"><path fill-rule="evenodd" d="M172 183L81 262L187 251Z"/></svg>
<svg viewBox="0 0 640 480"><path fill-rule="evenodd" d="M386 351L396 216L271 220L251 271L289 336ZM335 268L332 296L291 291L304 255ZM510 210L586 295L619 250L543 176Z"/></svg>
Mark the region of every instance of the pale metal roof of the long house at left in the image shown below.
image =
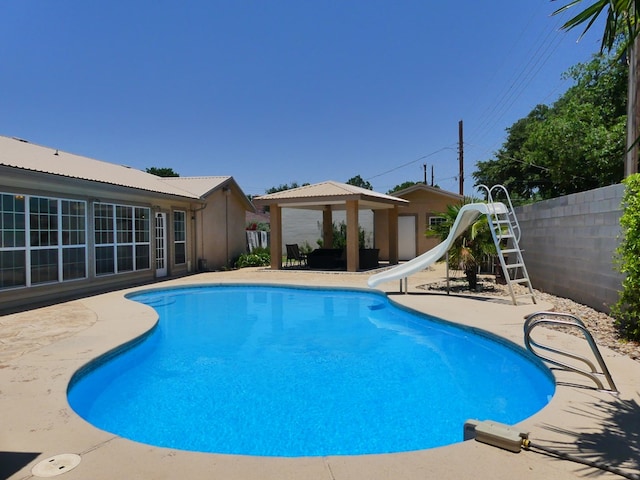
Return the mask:
<svg viewBox="0 0 640 480"><path fill-rule="evenodd" d="M230 182L237 187L233 178L229 176L158 177L125 165L95 160L5 136L0 136L0 165L191 199L202 199Z"/></svg>

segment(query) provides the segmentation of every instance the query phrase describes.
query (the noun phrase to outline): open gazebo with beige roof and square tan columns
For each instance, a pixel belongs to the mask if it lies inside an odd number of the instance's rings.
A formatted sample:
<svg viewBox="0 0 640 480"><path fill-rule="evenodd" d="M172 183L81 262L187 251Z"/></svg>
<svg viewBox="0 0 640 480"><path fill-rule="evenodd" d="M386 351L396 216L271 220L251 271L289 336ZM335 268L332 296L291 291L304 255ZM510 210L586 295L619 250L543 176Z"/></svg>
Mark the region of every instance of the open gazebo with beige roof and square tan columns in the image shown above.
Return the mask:
<svg viewBox="0 0 640 480"><path fill-rule="evenodd" d="M322 210L322 237L325 245L333 243L334 210L346 210L347 271L359 269L358 212L361 209L389 211L389 263L398 263L398 207L409 202L347 183L327 181L283 190L253 199L256 205L269 207L271 215L271 268L282 268L282 209Z"/></svg>

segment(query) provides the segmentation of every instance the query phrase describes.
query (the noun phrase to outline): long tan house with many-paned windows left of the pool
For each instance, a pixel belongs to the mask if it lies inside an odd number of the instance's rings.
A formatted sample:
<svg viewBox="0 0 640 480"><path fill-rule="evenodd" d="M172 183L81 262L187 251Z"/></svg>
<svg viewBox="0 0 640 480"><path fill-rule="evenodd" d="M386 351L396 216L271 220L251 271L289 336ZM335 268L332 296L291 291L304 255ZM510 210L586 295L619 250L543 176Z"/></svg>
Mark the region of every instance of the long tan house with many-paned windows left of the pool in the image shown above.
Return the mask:
<svg viewBox="0 0 640 480"><path fill-rule="evenodd" d="M0 305L230 266L251 210L230 176L161 178L0 136Z"/></svg>

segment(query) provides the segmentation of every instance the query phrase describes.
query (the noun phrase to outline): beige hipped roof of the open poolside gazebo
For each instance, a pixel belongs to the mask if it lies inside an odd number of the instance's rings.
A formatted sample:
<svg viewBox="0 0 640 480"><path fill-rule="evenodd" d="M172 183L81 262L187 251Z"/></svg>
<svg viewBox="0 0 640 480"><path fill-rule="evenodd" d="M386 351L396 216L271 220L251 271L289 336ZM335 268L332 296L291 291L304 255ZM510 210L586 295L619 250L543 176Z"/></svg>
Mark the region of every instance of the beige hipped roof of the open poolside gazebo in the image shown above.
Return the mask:
<svg viewBox="0 0 640 480"><path fill-rule="evenodd" d="M360 208L372 210L393 208L396 205L402 206L409 203L402 198L332 180L262 195L255 197L253 202L257 205L279 205L282 208L306 210L321 210L330 205L333 210L339 210L345 208L349 200L357 200Z"/></svg>

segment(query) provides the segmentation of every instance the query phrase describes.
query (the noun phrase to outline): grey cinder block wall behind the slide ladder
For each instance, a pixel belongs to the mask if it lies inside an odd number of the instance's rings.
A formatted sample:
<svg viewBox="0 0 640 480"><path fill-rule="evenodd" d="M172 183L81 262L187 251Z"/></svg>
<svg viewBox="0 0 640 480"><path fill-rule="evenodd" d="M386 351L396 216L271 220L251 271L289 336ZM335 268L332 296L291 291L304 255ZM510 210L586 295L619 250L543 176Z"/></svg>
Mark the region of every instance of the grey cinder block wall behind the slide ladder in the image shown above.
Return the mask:
<svg viewBox="0 0 640 480"><path fill-rule="evenodd" d="M613 255L623 193L612 185L515 209L533 288L609 312L622 288Z"/></svg>

